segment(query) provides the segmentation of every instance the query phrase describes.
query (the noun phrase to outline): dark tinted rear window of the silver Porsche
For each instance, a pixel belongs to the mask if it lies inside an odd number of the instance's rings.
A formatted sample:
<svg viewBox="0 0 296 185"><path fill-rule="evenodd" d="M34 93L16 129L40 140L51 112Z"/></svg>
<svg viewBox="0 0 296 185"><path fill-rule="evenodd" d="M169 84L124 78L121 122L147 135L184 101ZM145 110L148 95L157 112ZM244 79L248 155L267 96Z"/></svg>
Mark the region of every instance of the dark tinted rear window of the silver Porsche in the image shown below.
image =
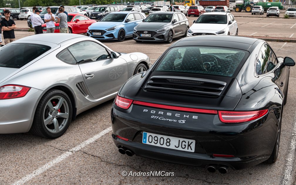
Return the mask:
<svg viewBox="0 0 296 185"><path fill-rule="evenodd" d="M0 48L0 67L21 68L50 48L41 44L10 43Z"/></svg>

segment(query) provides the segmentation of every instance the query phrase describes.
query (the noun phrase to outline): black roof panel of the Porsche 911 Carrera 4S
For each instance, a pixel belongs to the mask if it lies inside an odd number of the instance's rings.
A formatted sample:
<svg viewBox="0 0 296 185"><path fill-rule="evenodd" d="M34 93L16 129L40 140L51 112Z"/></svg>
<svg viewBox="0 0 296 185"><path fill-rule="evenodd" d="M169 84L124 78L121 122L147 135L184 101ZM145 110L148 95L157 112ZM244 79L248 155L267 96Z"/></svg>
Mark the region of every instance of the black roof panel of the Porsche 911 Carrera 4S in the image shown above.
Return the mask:
<svg viewBox="0 0 296 185"><path fill-rule="evenodd" d="M229 47L229 48L236 48L236 49L242 49L242 50L248 51L252 46L252 44L254 44L256 41L261 41L261 40L257 38L249 38L249 37L207 35L207 36L185 37L175 42L170 47L218 46L218 47Z"/></svg>

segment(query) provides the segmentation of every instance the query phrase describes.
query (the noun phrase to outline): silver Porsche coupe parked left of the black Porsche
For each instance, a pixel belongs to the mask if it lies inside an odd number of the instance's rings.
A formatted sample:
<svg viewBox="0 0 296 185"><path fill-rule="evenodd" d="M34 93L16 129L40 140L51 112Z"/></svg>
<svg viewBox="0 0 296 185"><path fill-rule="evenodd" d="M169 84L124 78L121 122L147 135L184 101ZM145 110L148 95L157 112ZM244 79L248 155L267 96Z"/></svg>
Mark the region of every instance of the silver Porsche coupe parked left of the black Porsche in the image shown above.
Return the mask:
<svg viewBox="0 0 296 185"><path fill-rule="evenodd" d="M45 138L61 136L76 115L113 99L151 66L146 54L113 52L68 33L19 39L1 47L0 58L0 133Z"/></svg>

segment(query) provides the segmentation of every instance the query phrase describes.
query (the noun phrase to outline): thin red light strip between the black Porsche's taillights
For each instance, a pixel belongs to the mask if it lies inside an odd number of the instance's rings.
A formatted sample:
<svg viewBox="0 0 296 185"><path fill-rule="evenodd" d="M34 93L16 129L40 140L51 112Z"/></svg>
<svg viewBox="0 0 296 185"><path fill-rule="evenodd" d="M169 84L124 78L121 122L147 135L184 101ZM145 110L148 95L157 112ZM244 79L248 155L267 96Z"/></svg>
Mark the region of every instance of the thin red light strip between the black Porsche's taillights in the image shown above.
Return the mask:
<svg viewBox="0 0 296 185"><path fill-rule="evenodd" d="M217 110L195 109L195 108L188 108L188 107L177 107L177 106L171 106L171 105L162 105L162 104L141 102L141 101L136 101L136 100L133 101L133 104L144 105L144 106L148 106L148 107L161 108L161 109L169 109L169 110L179 110L179 111L198 112L198 113L207 113L207 114L218 114Z"/></svg>

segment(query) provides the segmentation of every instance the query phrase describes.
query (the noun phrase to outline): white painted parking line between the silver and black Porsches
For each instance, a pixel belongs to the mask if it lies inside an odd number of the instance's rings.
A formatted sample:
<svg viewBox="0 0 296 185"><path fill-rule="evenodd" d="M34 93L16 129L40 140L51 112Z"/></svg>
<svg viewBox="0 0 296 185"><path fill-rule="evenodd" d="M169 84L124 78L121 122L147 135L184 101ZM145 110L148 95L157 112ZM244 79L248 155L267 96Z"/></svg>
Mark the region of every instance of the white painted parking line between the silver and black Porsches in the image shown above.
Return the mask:
<svg viewBox="0 0 296 185"><path fill-rule="evenodd" d="M63 153L59 157L57 157L54 160L50 161L49 163L46 163L45 165L41 166L37 170L35 170L32 173L28 174L27 176L21 178L18 181L15 181L15 183L13 183L13 185L16 185L16 184L25 184L26 182L30 181L32 178L34 178L34 177L40 175L41 173L45 172L46 170L48 170L49 168L53 167L55 164L61 162L65 158L69 157L70 155L74 154L78 150L81 150L82 148L86 147L88 144L91 144L92 142L96 141L100 137L104 136L106 133L109 133L111 130L112 130L112 127L106 128L105 130L101 131L97 135L89 138L86 141L83 141L81 144L78 144L76 147L68 150L68 152Z"/></svg>

